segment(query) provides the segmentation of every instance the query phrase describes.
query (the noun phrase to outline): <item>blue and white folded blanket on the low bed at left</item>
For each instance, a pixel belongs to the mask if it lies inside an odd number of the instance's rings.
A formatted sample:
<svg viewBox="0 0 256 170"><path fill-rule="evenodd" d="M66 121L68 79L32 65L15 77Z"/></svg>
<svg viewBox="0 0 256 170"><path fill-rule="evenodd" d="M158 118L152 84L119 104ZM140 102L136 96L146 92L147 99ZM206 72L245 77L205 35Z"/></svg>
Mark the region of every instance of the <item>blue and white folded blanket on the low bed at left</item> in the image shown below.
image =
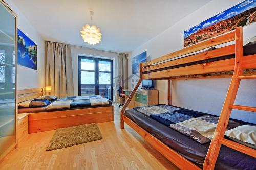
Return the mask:
<svg viewBox="0 0 256 170"><path fill-rule="evenodd" d="M65 109L65 108L76 108L76 107L86 107L86 106L98 106L98 105L108 105L109 100L102 98L100 95L91 96L73 96L68 98L57 99L52 102L45 109Z"/></svg>

